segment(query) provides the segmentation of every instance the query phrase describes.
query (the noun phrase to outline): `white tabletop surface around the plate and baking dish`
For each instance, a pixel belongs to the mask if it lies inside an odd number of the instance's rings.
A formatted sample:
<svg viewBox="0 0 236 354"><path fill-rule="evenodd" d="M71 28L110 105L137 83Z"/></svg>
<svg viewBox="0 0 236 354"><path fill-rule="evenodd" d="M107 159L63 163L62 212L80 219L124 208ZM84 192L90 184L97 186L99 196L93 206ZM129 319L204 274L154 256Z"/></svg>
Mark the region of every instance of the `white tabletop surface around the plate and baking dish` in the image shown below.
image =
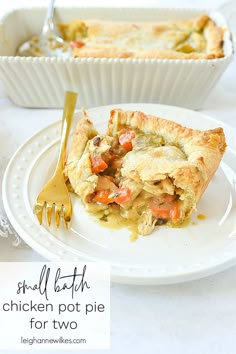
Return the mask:
<svg viewBox="0 0 236 354"><path fill-rule="evenodd" d="M47 1L40 1L40 5ZM59 5L78 1L59 1ZM135 1L137 6L172 6L174 1ZM87 1L86 5L105 5ZM217 8L222 1L178 1L178 6ZM31 6L32 1L0 3L0 12ZM34 2L33 5L39 5ZM112 5L109 2L109 5ZM119 1L116 6L126 6ZM129 2L128 5L133 5ZM207 99L202 112L236 127L236 61L230 65ZM58 110L23 109L0 90L0 179L7 162L24 140L61 115ZM0 221L3 216L0 200ZM0 229L1 230L1 229ZM0 236L0 261L43 261L15 237ZM169 286L111 286L111 340L106 353L236 353L236 266L205 279ZM12 353L13 352L8 352ZM14 352L15 353L15 352ZM40 352L54 353L54 351ZM66 352L63 352L66 353ZM90 351L86 351L90 353ZM104 352L105 353L105 352Z"/></svg>

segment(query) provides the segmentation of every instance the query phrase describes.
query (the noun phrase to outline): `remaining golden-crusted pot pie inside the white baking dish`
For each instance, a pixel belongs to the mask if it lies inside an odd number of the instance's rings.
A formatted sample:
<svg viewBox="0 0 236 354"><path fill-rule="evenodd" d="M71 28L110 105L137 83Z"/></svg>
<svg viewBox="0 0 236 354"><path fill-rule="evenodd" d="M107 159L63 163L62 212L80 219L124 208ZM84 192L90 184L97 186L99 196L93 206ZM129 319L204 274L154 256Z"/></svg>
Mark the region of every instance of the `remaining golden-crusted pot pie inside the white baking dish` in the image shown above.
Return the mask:
<svg viewBox="0 0 236 354"><path fill-rule="evenodd" d="M214 59L224 56L223 29L208 16L189 20L59 24L74 57Z"/></svg>

